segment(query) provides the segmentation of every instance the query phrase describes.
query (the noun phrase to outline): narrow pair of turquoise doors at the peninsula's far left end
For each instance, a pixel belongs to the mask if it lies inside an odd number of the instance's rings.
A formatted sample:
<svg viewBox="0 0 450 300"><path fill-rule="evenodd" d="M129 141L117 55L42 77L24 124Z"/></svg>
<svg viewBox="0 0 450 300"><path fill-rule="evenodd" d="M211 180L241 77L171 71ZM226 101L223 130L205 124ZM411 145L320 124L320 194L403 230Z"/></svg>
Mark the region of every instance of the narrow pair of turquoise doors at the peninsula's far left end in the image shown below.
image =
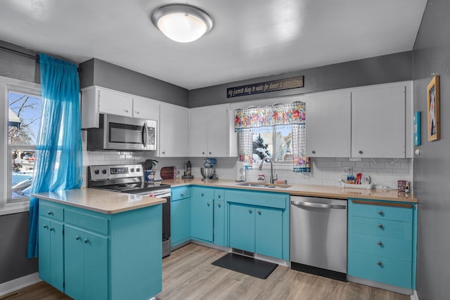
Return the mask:
<svg viewBox="0 0 450 300"><path fill-rule="evenodd" d="M63 223L39 217L39 277L64 292Z"/></svg>

